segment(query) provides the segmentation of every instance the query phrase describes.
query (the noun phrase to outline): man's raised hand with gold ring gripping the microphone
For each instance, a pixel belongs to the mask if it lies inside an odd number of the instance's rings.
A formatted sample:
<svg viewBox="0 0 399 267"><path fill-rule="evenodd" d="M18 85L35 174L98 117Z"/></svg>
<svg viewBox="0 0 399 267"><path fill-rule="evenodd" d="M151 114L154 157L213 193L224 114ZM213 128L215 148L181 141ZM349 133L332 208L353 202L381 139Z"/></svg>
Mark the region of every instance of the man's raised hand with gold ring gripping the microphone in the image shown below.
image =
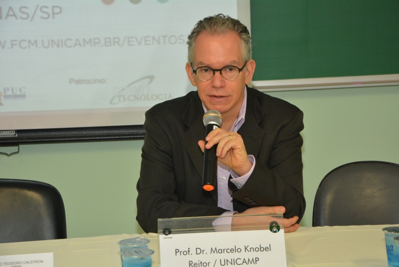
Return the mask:
<svg viewBox="0 0 399 267"><path fill-rule="evenodd" d="M216 128L206 136L205 140L206 146L205 141L200 140L198 142L202 152L205 147L209 149L217 145L216 156L220 163L230 167L238 176L243 176L249 172L252 163L248 159L241 135Z"/></svg>

